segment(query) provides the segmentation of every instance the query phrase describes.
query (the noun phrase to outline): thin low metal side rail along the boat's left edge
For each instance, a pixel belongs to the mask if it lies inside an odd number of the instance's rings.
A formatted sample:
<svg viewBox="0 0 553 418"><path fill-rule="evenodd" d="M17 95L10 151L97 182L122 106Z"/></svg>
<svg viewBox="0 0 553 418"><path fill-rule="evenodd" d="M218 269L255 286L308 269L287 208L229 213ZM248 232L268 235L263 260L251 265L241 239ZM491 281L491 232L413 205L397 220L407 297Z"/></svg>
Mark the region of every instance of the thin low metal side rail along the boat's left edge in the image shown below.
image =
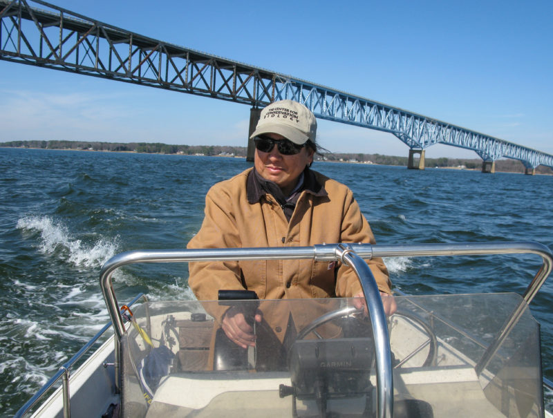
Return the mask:
<svg viewBox="0 0 553 418"><path fill-rule="evenodd" d="M129 303L129 306L132 306L138 299L140 299L144 294L139 294L133 300ZM64 399L64 418L68 418L71 416L71 397L69 395L69 374L71 372L71 368L73 368L73 365L77 363L84 354L88 352L92 348L92 346L102 337L102 335L105 334L107 330L111 328L111 322L106 323L102 329L97 332L95 336L91 338L88 343L86 343L78 352L75 354L71 359L66 361L66 363L62 364L57 371L56 374L53 375L53 377L50 378L46 383L44 383L44 386L42 386L35 395L31 399L29 399L24 406L21 406L19 410L14 415L15 418L24 417L33 406L35 406L41 399L48 393L48 391L53 388L53 386L59 381L59 379L62 379L62 395Z"/></svg>

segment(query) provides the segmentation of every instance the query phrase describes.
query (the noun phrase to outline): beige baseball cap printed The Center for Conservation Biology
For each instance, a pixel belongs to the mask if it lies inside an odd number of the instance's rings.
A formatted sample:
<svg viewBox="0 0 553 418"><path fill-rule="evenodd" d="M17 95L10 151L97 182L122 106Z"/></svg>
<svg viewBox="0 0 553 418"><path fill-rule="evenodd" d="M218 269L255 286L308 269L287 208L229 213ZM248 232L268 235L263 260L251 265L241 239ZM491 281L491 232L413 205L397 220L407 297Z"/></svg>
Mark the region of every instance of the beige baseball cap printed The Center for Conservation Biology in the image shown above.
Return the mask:
<svg viewBox="0 0 553 418"><path fill-rule="evenodd" d="M315 142L317 120L303 104L288 99L280 100L263 108L250 139L263 133L278 133L294 144L303 145L307 140Z"/></svg>

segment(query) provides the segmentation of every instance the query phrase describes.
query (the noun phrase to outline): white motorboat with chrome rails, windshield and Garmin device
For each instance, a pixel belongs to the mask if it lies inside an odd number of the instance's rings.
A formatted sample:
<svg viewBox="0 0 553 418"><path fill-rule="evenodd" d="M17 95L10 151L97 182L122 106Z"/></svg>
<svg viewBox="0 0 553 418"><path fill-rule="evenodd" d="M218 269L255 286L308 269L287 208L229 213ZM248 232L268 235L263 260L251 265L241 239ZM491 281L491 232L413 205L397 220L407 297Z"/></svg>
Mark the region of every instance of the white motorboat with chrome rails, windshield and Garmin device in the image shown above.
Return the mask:
<svg viewBox="0 0 553 418"><path fill-rule="evenodd" d="M523 295L397 292L391 316L364 262L496 254L541 256ZM138 295L122 306L112 280L131 264L300 258L352 267L366 308L351 298L260 301L225 289L218 301ZM529 312L552 266L552 251L532 242L127 251L100 272L111 324L16 417L553 417ZM252 320L254 347L234 345L218 327L229 307L263 315Z"/></svg>

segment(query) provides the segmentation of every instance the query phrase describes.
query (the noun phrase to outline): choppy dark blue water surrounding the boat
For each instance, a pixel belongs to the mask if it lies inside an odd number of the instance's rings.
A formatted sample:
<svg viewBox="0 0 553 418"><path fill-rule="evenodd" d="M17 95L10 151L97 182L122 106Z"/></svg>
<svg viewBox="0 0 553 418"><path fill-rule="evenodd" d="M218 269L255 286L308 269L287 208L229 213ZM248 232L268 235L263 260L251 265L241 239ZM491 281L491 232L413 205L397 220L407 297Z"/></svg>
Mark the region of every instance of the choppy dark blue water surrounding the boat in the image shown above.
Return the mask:
<svg viewBox="0 0 553 418"><path fill-rule="evenodd" d="M0 396L12 415L108 321L100 266L130 249L178 249L200 227L204 196L250 167L241 159L0 149ZM377 243L534 240L553 247L553 177L316 162L350 186ZM454 261L455 260L455 261ZM393 258L413 294L522 294L537 256ZM127 267L119 301L138 292L192 298L187 269ZM553 379L553 283L532 303L543 372Z"/></svg>

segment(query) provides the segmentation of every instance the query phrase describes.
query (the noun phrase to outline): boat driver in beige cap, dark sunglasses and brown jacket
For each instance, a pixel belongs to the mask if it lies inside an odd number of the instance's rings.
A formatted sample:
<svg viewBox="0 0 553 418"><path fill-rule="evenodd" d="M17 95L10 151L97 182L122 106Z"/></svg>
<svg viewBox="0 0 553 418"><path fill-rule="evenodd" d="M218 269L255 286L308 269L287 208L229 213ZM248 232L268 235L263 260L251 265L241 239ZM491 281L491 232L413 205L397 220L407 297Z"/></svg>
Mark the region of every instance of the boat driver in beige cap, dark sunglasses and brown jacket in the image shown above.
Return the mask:
<svg viewBox="0 0 553 418"><path fill-rule="evenodd" d="M209 190L203 225L187 247L374 244L350 189L310 169L317 151L316 133L315 115L306 106L282 100L265 107L251 137L256 146L254 169ZM378 258L367 263L381 294L388 295L391 283L386 266ZM262 299L363 296L355 272L334 262L190 263L189 272L189 285L200 300L215 300L218 289L249 289ZM393 303L393 298L389 301ZM356 304L361 307L361 299ZM395 308L388 303L386 309ZM254 345L252 327L240 312L227 310L221 325L238 345Z"/></svg>

